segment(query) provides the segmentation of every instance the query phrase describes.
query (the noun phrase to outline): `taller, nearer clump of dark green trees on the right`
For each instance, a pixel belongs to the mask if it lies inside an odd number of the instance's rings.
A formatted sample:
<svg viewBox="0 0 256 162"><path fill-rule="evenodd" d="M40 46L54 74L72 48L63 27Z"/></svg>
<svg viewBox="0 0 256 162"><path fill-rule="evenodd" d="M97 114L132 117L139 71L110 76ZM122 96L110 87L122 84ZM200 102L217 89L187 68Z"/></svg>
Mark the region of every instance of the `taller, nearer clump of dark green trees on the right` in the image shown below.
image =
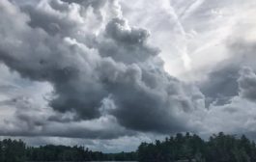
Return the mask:
<svg viewBox="0 0 256 162"><path fill-rule="evenodd" d="M140 162L256 162L254 142L244 135L238 138L224 133L213 135L208 141L179 133L163 142L142 143L137 153Z"/></svg>

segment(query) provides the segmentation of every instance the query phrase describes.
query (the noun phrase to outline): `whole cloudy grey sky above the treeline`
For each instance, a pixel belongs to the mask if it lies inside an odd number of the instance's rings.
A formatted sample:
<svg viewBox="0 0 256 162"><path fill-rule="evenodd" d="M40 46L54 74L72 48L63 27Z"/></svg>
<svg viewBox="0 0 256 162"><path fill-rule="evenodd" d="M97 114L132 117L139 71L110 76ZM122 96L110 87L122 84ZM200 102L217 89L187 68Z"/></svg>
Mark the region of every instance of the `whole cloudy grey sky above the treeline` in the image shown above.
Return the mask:
<svg viewBox="0 0 256 162"><path fill-rule="evenodd" d="M1 0L0 139L135 150L256 134L256 1Z"/></svg>

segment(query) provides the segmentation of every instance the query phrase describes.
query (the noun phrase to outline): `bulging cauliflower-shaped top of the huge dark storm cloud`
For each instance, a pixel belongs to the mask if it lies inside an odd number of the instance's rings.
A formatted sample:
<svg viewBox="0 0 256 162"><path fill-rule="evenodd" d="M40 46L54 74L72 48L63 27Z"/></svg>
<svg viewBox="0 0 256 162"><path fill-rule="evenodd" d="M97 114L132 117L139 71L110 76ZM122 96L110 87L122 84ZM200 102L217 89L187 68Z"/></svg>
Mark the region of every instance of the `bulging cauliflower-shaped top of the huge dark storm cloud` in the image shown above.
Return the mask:
<svg viewBox="0 0 256 162"><path fill-rule="evenodd" d="M128 64L144 62L157 55L158 50L147 44L148 31L128 28L124 19L111 20L105 28L106 38L99 45L100 55Z"/></svg>

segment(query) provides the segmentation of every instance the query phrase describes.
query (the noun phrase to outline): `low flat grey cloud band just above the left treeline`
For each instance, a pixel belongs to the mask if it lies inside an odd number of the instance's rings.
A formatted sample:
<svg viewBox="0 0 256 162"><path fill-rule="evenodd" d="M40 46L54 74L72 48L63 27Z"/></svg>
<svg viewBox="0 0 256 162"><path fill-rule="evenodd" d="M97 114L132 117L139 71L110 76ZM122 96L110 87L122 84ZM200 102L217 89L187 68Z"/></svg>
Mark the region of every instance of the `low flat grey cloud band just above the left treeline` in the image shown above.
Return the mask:
<svg viewBox="0 0 256 162"><path fill-rule="evenodd" d="M34 112L36 113L36 112ZM127 130L115 124L115 121L104 123L104 127L96 129L95 122L92 126L84 126L84 122L52 122L38 119L33 115L19 114L15 121L5 121L4 124L15 126L12 129L2 127L1 136L47 136L47 137L70 137L86 139L115 139L122 136L134 136L137 133ZM111 125L110 125L111 124Z"/></svg>

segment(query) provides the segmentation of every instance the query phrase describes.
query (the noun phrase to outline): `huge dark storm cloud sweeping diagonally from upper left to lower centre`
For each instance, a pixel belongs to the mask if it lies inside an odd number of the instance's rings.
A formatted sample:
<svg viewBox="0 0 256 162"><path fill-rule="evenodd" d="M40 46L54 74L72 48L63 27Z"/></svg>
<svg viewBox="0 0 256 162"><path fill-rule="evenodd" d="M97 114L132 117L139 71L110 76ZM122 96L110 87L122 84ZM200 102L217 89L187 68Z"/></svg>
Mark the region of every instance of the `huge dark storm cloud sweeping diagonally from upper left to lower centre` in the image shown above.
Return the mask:
<svg viewBox="0 0 256 162"><path fill-rule="evenodd" d="M68 3L54 7L52 1L46 2L57 11L65 12L68 8ZM203 94L164 71L162 61L156 56L158 49L147 43L149 32L129 27L121 17L110 20L95 38L96 44L88 48L69 33L49 35L54 31L44 23L59 24L62 30L58 18L39 13L31 17L20 14L8 1L1 1L0 8L0 36L4 38L0 40L0 60L22 77L50 83L54 96L49 106L64 114L74 112L73 121L102 118L103 100L110 97L113 104L105 112L125 128L170 133L187 130L186 113L203 107L200 105ZM31 8L24 9L33 13ZM64 29L70 25L63 24ZM35 126L35 135L42 133L37 129L38 124L44 126L54 121L46 118L43 123L23 113L17 117L27 127L24 132ZM53 123L42 129L43 135L110 138L129 134L124 127L120 128L122 131L113 131L115 128L110 126L103 129L106 133L99 130L90 134L88 128L78 126L74 130L72 121L66 122L71 124L67 128L60 123L51 127Z"/></svg>

